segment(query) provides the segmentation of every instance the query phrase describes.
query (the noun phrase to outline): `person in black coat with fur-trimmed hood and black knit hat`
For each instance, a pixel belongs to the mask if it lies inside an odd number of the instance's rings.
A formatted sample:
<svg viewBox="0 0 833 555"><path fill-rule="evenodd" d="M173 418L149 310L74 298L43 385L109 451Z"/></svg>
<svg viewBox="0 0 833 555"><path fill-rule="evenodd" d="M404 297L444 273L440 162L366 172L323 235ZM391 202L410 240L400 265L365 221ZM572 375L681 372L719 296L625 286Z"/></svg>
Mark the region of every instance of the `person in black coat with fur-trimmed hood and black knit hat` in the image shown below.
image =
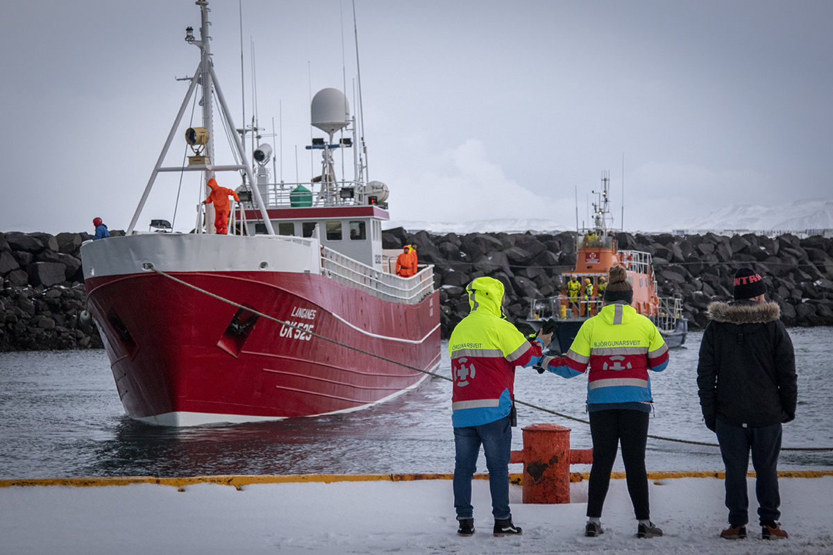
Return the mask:
<svg viewBox="0 0 833 555"><path fill-rule="evenodd" d="M749 453L755 467L761 537L786 538L778 519L781 424L796 418L796 358L781 309L765 299L761 275L735 274L735 300L708 306L697 386L706 427L717 434L726 466L729 528L722 538L746 538Z"/></svg>

